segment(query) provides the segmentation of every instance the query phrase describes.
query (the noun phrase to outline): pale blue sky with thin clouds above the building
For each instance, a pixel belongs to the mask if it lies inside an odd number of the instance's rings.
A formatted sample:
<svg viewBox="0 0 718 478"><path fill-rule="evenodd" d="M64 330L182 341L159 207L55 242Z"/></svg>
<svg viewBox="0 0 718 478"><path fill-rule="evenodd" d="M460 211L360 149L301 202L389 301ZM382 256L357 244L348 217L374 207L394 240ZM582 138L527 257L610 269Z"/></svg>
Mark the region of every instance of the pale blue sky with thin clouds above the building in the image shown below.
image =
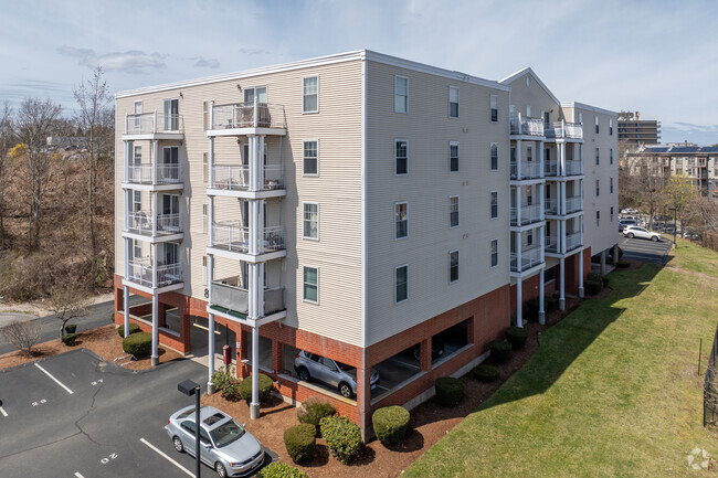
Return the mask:
<svg viewBox="0 0 718 478"><path fill-rule="evenodd" d="M70 115L97 65L117 92L368 49L496 81L531 66L562 102L711 145L717 30L715 0L0 0L0 103Z"/></svg>

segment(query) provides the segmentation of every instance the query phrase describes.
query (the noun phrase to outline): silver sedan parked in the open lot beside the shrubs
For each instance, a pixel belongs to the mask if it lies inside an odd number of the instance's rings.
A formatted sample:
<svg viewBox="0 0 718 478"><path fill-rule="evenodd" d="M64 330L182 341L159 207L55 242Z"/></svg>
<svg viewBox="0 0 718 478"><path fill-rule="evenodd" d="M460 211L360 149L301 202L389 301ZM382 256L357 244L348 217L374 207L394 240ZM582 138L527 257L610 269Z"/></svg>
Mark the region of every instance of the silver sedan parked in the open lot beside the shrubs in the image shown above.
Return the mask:
<svg viewBox="0 0 718 478"><path fill-rule="evenodd" d="M179 453L194 456L194 406L173 413L167 422L169 435ZM264 447L234 418L213 406L200 407L200 460L224 477L244 476L264 463Z"/></svg>

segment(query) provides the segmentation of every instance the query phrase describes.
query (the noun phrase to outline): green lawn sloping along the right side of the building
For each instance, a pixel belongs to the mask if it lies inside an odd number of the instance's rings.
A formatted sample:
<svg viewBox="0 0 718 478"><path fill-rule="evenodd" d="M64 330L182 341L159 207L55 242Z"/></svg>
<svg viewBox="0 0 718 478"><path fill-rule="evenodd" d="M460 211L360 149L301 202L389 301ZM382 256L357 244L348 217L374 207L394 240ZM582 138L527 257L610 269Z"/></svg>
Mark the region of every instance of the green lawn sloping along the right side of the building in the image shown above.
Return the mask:
<svg viewBox="0 0 718 478"><path fill-rule="evenodd" d="M718 457L696 374L698 340L705 371L718 319L718 254L678 245L671 268L612 273L609 297L546 331L526 365L402 478L686 476L691 449Z"/></svg>

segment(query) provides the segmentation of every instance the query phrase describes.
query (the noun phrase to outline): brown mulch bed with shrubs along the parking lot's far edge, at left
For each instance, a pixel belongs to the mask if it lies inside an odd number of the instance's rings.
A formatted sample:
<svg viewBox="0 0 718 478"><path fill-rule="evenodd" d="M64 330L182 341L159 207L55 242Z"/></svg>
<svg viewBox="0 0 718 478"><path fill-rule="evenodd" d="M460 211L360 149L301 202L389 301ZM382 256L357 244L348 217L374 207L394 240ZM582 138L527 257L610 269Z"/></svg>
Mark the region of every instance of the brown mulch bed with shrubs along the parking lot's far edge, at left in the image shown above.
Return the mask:
<svg viewBox="0 0 718 478"><path fill-rule="evenodd" d="M23 363L33 362L45 357L56 355L83 347L92 350L108 362L114 362L116 358L126 355L126 353L123 352L122 338L117 334L115 326L109 325L77 333L77 340L74 347L67 347L62 343L60 339L55 339L35 346L32 349L32 357L28 357L20 351L0 355L0 370L22 365ZM160 363L169 362L182 357L180 353L161 346L158 348L158 354ZM151 368L151 361L148 357L126 363L123 367L130 370L146 370Z"/></svg>

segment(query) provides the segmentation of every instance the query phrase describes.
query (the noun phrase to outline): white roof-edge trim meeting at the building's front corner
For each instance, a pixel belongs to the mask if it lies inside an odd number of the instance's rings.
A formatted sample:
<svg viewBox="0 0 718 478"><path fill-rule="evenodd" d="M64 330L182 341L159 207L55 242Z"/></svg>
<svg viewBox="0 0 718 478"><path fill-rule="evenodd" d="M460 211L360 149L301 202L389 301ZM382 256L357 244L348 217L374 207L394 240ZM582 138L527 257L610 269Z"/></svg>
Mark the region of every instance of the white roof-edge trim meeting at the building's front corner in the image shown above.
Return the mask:
<svg viewBox="0 0 718 478"><path fill-rule="evenodd" d="M116 99L127 98L131 96L146 95L149 93L159 93L169 89L186 88L189 86L199 86L199 85L207 85L211 83L235 81L235 79L246 78L250 76L266 75L266 74L278 73L278 72L288 72L292 70L308 68L314 66L330 65L334 63L342 63L342 62L350 62L350 61L358 61L358 60L369 60L377 63L399 66L402 68L413 70L415 72L421 72L421 73L429 73L437 76L443 76L450 79L456 79L460 82L487 86L487 87L492 87L505 92L508 92L510 89L510 87L501 85L498 82L479 78L478 76L472 76L456 71L444 70L436 66L426 65L423 63L412 62L410 60L403 60L397 56L386 55L383 53L378 53L370 50L356 50L346 53L338 53L338 54L326 55L326 56L317 56L308 60L300 60L297 62L281 63L277 65L270 65L270 66L261 66L258 68L245 70L242 72L224 73L221 75L205 76L202 78L165 83L156 86L145 86L135 89L125 89L123 92L117 92L115 94L115 98Z"/></svg>

